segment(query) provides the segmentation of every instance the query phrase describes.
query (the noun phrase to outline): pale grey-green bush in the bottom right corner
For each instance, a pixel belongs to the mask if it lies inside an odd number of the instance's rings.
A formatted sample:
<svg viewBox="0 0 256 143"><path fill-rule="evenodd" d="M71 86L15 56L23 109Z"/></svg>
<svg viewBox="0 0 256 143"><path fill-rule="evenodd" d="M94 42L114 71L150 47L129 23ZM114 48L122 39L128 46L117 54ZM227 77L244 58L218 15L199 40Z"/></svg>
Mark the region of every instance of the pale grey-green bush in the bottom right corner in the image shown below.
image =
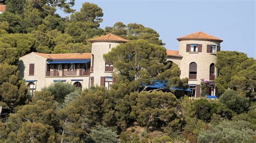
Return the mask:
<svg viewBox="0 0 256 143"><path fill-rule="evenodd" d="M223 121L211 125L209 130L201 130L199 142L255 142L256 132L250 128L247 121Z"/></svg>

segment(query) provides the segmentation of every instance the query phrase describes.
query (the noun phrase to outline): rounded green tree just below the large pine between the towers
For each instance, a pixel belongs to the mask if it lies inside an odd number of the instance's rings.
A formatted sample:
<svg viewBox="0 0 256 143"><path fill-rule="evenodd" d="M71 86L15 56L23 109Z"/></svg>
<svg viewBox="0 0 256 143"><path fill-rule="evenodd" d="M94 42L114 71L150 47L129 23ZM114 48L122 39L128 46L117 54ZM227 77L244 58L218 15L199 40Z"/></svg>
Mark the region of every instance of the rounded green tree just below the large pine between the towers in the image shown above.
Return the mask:
<svg viewBox="0 0 256 143"><path fill-rule="evenodd" d="M134 116L142 126L153 128L163 127L174 118L176 97L167 92L140 92L136 98L137 104L132 106L131 116Z"/></svg>

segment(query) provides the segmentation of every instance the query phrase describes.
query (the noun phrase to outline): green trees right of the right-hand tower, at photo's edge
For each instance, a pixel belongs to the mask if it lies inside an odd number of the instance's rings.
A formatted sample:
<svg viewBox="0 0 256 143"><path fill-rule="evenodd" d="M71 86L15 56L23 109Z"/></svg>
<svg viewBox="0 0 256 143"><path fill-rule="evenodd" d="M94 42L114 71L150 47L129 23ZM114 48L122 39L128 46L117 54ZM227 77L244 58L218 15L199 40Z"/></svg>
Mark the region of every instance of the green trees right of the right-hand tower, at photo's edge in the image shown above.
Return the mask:
<svg viewBox="0 0 256 143"><path fill-rule="evenodd" d="M256 61L253 58L240 52L220 51L215 66L220 70L220 75L214 80L220 95L230 88L245 92L252 98L255 96Z"/></svg>

